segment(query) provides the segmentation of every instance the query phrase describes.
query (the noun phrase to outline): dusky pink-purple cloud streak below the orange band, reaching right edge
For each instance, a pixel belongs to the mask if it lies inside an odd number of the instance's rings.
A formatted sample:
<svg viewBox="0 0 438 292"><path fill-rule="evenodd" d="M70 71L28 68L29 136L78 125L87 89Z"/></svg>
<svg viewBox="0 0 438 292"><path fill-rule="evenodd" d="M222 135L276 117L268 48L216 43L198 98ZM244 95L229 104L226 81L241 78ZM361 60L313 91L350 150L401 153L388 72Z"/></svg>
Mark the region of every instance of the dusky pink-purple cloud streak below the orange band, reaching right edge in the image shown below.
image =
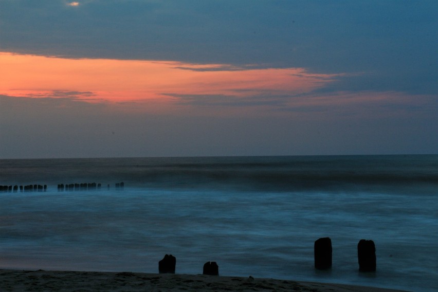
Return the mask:
<svg viewBox="0 0 438 292"><path fill-rule="evenodd" d="M250 111L257 116L290 114L317 120L362 119L376 120L388 117L434 119L438 103L433 95L410 96L397 92L337 92L319 94L309 92L297 95L259 94L235 95L180 95L164 94L175 98L179 105L196 107L203 111L227 111L239 115ZM436 118L435 118L436 120ZM437 120L438 122L438 120Z"/></svg>

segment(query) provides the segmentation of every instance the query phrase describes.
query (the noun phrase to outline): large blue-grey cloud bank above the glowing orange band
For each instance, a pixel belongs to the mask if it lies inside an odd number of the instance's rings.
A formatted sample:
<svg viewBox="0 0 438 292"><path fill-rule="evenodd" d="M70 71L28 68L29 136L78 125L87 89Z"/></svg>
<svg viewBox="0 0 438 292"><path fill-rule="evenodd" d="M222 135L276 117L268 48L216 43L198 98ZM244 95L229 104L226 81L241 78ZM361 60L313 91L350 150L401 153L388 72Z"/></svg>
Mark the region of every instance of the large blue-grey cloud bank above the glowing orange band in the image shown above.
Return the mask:
<svg viewBox="0 0 438 292"><path fill-rule="evenodd" d="M364 72L344 79L344 90L438 93L436 1L96 0L83 9L65 9L65 3L3 1L0 49L67 58L230 64L223 68L228 70L268 64Z"/></svg>

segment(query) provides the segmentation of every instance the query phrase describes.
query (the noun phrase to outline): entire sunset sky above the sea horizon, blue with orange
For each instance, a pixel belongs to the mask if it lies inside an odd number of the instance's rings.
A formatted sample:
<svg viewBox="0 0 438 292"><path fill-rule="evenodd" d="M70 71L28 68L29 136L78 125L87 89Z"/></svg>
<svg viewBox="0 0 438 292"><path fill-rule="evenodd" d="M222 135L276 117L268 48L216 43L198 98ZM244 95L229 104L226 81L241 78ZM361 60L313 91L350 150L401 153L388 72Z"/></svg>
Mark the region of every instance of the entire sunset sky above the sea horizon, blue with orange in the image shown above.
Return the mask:
<svg viewBox="0 0 438 292"><path fill-rule="evenodd" d="M438 154L438 2L0 0L0 158Z"/></svg>

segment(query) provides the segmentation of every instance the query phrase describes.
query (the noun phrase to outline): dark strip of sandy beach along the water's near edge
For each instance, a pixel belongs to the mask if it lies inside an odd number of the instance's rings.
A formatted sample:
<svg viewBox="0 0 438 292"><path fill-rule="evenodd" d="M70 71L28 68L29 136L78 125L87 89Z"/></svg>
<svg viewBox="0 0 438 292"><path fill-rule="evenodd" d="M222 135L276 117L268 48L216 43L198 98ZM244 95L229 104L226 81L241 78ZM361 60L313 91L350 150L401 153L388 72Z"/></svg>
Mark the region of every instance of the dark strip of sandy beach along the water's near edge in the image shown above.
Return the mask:
<svg viewBox="0 0 438 292"><path fill-rule="evenodd" d="M136 272L0 270L1 291L312 291L396 292L343 284Z"/></svg>

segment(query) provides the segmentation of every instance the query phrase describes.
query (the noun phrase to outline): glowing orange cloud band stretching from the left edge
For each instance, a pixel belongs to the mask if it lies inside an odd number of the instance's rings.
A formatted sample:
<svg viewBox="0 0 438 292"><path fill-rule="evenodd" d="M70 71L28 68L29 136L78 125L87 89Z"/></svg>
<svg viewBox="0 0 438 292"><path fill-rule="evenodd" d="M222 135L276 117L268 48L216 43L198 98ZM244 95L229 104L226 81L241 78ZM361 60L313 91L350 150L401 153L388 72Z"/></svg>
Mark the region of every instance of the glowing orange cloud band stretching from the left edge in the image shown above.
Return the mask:
<svg viewBox="0 0 438 292"><path fill-rule="evenodd" d="M76 95L88 102L172 102L177 95L254 95L311 92L339 75L309 74L303 68L233 67L181 62L64 59L0 52L0 94L49 97ZM59 97L52 95L51 97Z"/></svg>

